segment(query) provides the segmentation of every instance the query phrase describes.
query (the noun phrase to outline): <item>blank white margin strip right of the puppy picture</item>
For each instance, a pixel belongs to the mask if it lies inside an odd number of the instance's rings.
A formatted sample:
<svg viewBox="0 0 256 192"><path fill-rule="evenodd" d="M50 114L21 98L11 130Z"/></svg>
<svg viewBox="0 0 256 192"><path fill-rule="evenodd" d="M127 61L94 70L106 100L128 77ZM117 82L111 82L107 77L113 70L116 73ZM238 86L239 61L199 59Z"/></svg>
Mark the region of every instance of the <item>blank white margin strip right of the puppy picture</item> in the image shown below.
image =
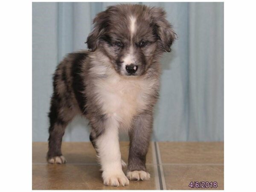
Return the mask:
<svg viewBox="0 0 256 192"><path fill-rule="evenodd" d="M256 26L253 1L224 3L224 189L255 189ZM254 4L254 5L253 5Z"/></svg>

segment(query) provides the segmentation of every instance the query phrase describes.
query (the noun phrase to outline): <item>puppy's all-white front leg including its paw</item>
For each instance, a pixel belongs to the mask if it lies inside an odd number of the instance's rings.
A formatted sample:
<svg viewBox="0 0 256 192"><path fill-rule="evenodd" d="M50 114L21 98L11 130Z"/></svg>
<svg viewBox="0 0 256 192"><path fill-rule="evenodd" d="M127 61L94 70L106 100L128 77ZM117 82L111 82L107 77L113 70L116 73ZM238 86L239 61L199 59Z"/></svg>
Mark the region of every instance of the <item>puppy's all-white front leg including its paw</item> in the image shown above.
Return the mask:
<svg viewBox="0 0 256 192"><path fill-rule="evenodd" d="M110 116L105 119L102 134L95 138L97 155L102 166L103 182L109 186L129 184L129 180L122 171L118 127L119 123L115 116Z"/></svg>

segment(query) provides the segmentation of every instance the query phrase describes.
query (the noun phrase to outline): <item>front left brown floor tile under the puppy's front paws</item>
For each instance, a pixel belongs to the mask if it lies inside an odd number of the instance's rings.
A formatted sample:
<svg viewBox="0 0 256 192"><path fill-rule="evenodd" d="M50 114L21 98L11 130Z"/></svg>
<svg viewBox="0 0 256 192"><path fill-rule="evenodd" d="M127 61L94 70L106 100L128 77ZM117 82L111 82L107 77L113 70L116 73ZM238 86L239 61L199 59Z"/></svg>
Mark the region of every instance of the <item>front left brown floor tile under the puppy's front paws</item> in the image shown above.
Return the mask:
<svg viewBox="0 0 256 192"><path fill-rule="evenodd" d="M34 164L32 166L32 189L155 189L154 169L148 165L151 179L130 181L125 187L105 186L99 166L64 164Z"/></svg>

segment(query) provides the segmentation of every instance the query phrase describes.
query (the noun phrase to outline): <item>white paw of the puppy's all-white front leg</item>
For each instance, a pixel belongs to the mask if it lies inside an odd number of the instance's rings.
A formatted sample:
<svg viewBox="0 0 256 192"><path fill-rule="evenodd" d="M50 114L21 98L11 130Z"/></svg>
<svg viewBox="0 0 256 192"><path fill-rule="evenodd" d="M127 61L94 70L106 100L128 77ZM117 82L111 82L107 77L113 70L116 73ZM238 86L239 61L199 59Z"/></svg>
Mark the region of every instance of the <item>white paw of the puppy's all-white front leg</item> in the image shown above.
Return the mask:
<svg viewBox="0 0 256 192"><path fill-rule="evenodd" d="M125 186L129 185L129 180L123 172L120 173L102 173L103 183L108 186Z"/></svg>

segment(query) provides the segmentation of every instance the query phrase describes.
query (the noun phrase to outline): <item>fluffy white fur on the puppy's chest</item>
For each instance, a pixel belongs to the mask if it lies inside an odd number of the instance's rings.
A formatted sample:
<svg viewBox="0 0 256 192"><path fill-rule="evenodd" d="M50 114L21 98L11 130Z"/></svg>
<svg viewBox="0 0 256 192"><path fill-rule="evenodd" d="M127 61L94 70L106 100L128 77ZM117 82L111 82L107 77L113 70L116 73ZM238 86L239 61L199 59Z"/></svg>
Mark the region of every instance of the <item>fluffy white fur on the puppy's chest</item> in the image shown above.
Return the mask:
<svg viewBox="0 0 256 192"><path fill-rule="evenodd" d="M154 82L116 75L99 79L96 86L96 100L103 112L126 127L137 113L147 108Z"/></svg>

